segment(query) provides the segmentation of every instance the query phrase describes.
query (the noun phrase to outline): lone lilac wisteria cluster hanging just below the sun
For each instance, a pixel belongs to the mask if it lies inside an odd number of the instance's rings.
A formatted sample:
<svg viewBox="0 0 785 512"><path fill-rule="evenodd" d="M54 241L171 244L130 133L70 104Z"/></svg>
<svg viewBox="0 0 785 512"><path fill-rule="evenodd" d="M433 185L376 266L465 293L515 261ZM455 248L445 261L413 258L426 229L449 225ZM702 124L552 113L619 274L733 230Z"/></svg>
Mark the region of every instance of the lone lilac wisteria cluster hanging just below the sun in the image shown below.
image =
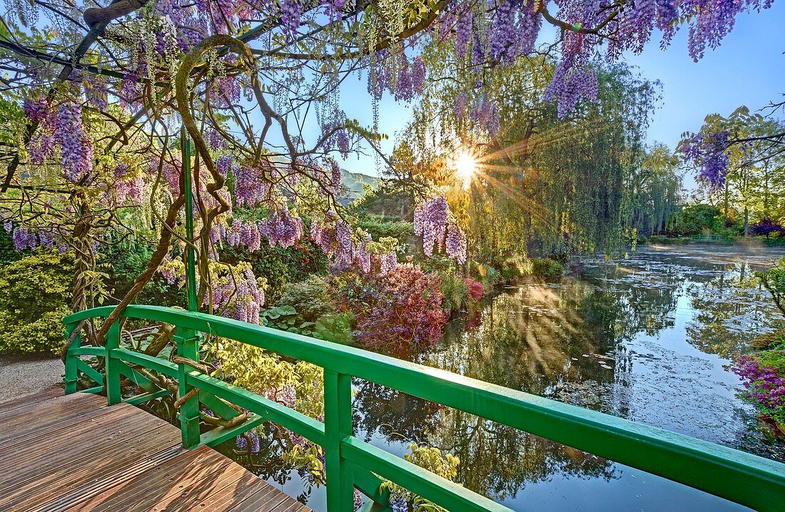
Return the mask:
<svg viewBox="0 0 785 512"><path fill-rule="evenodd" d="M422 237L422 251L433 256L444 247L452 260L466 263L466 234L450 220L450 207L443 196L430 199L414 209L414 234Z"/></svg>

